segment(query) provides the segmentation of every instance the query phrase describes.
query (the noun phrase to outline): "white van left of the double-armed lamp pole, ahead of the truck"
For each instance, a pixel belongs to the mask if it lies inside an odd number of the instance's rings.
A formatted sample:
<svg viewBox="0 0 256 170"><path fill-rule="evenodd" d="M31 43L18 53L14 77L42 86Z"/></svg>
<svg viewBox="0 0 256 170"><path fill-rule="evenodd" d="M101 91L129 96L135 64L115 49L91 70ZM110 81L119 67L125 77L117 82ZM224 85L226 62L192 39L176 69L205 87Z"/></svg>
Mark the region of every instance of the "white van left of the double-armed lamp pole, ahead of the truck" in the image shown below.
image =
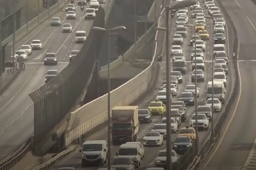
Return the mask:
<svg viewBox="0 0 256 170"><path fill-rule="evenodd" d="M89 140L83 143L79 152L82 152L82 167L89 163L99 163L104 165L107 160L107 141L106 140Z"/></svg>

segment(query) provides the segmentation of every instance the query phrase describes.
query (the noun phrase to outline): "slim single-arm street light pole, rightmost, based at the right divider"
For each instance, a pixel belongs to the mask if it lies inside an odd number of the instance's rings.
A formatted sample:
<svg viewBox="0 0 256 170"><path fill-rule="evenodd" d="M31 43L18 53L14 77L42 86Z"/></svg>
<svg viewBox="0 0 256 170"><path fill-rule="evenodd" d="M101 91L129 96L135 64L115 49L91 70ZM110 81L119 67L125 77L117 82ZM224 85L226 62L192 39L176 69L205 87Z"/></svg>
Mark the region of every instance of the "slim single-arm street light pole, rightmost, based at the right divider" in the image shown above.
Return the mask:
<svg viewBox="0 0 256 170"><path fill-rule="evenodd" d="M215 19L212 17L212 16L205 16L205 18L209 18L209 19L212 19L212 46L214 46L214 21ZM213 47L212 47L213 48ZM214 134L214 102L213 102L213 99L214 99L214 82L213 82L213 75L214 75L214 50L212 49L212 128L211 128L211 131L212 131L212 135L213 135L213 139L215 138L215 134Z"/></svg>

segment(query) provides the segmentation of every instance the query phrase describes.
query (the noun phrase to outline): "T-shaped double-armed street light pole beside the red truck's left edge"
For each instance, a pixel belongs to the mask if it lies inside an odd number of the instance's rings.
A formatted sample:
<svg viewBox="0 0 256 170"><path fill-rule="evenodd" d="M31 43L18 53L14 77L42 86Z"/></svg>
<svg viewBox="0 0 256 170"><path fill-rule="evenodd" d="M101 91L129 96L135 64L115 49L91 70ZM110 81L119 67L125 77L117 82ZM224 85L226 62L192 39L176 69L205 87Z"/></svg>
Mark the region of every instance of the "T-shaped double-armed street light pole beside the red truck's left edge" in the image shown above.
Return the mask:
<svg viewBox="0 0 256 170"><path fill-rule="evenodd" d="M107 62L107 143L108 143L108 149L107 149L107 170L111 170L111 115L110 115L110 33L111 32L117 32L119 30L126 30L126 27L119 26L112 29L105 29L100 27L93 27L91 30L95 31L102 31L107 33L107 39L108 39L108 62Z"/></svg>

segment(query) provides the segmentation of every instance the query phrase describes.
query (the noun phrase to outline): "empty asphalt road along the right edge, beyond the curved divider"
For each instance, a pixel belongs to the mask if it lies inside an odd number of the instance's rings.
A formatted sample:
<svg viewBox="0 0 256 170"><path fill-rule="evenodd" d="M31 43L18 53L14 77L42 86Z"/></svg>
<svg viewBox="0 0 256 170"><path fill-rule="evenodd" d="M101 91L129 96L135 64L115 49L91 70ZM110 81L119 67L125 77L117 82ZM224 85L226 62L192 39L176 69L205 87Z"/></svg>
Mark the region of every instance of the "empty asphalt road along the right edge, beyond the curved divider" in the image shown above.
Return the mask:
<svg viewBox="0 0 256 170"><path fill-rule="evenodd" d="M238 33L240 85L223 134L207 157L203 170L255 170L256 137L256 6L251 0L222 1ZM251 152L252 150L252 152ZM252 155L249 156L250 152ZM253 153L254 152L254 153Z"/></svg>

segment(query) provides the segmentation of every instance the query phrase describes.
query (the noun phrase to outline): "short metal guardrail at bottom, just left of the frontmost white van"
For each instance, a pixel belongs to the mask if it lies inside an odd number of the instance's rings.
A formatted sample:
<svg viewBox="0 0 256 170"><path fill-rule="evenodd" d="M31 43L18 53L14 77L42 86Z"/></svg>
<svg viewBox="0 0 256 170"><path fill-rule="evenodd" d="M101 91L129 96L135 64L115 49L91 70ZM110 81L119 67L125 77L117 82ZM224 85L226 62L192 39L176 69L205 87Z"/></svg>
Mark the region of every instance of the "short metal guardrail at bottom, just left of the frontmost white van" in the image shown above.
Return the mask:
<svg viewBox="0 0 256 170"><path fill-rule="evenodd" d="M33 170L47 170L52 168L56 165L56 163L60 162L63 158L65 158L67 155L71 154L76 150L75 147L71 147L66 149L65 151L59 153L58 155L54 156L52 159L47 161L46 163L43 163L42 165L37 166Z"/></svg>

